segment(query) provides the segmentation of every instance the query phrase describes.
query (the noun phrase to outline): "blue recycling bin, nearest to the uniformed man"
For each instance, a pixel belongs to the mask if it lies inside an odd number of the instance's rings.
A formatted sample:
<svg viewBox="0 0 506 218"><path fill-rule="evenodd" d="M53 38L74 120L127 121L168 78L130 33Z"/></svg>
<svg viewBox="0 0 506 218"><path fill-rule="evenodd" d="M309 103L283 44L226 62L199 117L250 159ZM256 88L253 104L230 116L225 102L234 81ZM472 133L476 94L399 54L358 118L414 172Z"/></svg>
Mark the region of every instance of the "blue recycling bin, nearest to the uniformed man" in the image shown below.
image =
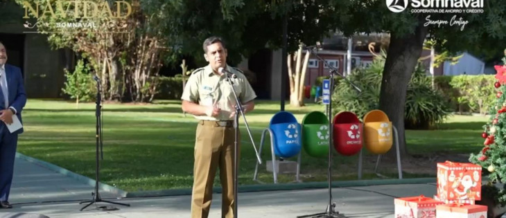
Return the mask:
<svg viewBox="0 0 506 218"><path fill-rule="evenodd" d="M274 154L290 158L301 149L301 128L292 113L280 111L270 119L269 128L274 138Z"/></svg>

